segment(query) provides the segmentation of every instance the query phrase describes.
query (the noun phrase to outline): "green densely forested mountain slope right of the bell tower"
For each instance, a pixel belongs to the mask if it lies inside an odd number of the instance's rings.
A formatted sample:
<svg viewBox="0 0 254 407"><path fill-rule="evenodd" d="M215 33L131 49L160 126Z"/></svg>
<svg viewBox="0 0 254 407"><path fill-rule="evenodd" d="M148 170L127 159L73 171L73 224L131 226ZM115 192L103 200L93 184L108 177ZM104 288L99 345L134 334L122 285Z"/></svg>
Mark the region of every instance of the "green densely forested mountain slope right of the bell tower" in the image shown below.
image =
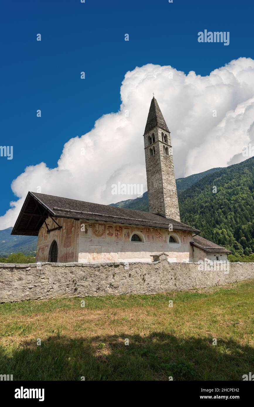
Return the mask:
<svg viewBox="0 0 254 407"><path fill-rule="evenodd" d="M254 252L254 158L206 175L179 195L179 206L181 221L206 239L233 254Z"/></svg>

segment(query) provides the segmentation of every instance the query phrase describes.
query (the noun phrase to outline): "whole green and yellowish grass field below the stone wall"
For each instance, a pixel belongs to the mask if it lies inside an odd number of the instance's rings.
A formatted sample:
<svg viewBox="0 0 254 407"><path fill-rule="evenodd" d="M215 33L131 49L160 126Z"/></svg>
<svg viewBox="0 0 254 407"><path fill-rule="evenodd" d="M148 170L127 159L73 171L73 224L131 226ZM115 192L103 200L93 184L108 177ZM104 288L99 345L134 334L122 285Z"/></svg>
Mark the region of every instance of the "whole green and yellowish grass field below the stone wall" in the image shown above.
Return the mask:
<svg viewBox="0 0 254 407"><path fill-rule="evenodd" d="M248 280L148 296L0 304L0 374L13 380L242 380L254 372L253 300L254 280Z"/></svg>

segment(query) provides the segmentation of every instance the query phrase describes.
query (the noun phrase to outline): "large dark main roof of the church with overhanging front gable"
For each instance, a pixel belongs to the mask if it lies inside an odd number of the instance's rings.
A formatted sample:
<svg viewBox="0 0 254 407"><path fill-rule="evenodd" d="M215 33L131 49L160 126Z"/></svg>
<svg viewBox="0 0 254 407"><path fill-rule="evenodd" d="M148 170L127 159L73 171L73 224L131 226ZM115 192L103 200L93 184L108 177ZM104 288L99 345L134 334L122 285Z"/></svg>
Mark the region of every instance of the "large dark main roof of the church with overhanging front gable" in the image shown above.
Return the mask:
<svg viewBox="0 0 254 407"><path fill-rule="evenodd" d="M199 233L199 230L191 226L150 212L28 192L11 234L37 236L44 219L47 219L48 216L124 223L162 229L168 229L169 224L172 223L175 230Z"/></svg>

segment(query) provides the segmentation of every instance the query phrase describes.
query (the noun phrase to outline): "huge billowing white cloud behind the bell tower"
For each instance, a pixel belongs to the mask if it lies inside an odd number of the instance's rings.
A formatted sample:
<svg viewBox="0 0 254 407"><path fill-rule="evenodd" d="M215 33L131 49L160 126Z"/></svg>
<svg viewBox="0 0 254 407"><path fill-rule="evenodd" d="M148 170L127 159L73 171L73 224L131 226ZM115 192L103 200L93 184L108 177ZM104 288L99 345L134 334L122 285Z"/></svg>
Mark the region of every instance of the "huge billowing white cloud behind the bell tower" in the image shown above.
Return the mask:
<svg viewBox="0 0 254 407"><path fill-rule="evenodd" d="M145 191L142 135L153 92L171 131L176 177L245 159L243 146L254 142L253 59L233 60L206 77L147 64L125 74L119 111L70 138L57 168L27 163L11 184L17 200L0 217L0 229L15 223L28 191L38 186L45 194L101 204L135 197L112 195L112 184L118 182L142 184Z"/></svg>

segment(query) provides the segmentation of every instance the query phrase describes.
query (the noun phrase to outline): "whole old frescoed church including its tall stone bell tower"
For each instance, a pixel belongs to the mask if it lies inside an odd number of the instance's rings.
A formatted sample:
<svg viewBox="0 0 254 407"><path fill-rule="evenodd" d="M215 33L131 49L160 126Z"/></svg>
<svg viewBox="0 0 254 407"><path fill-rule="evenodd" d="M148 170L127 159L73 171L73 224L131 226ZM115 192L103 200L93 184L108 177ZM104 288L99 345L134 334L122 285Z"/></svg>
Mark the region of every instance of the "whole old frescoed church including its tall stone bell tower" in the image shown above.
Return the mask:
<svg viewBox="0 0 254 407"><path fill-rule="evenodd" d="M36 262L227 260L229 250L181 223L170 131L153 97L145 127L149 212L28 192L11 234L38 236Z"/></svg>

